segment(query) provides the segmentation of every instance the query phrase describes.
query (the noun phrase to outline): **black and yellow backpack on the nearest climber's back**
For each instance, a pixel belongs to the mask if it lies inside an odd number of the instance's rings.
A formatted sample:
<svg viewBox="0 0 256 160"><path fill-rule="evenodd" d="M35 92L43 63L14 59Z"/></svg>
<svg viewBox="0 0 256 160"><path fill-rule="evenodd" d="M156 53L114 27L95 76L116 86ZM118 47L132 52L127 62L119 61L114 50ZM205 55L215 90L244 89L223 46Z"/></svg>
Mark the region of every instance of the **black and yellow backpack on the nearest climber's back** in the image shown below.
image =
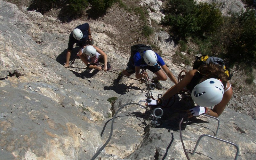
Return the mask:
<svg viewBox="0 0 256 160"><path fill-rule="evenodd" d="M213 63L213 64L216 64L216 65L222 66L225 73L228 75L228 80L231 79L232 74L230 74L230 70L227 68L224 61L221 58L218 58L218 57L209 57L207 55L203 55L203 56L200 56L200 57L196 56L196 60L193 63L193 69L197 69L201 65L205 65L205 64L209 64L209 63Z"/></svg>

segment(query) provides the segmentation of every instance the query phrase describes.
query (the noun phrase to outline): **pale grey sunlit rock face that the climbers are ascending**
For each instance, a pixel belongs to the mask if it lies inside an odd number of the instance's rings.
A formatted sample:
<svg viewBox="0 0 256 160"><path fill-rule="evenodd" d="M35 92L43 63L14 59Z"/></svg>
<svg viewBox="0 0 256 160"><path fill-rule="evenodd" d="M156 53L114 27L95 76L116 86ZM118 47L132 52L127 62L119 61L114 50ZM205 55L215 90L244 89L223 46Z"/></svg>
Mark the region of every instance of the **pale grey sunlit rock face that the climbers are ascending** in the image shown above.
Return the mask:
<svg viewBox="0 0 256 160"><path fill-rule="evenodd" d="M152 110L141 108L138 102L148 93L157 97L166 90L148 92L145 84L128 78L115 82L117 68L125 66L129 57L116 51L118 42L112 44L105 34L118 33L117 27L90 22L95 44L107 53L116 69L110 71L115 73L86 70L75 56L71 59L76 68L67 69L63 64L68 35L83 21L63 24L4 1L0 7L1 159L91 159L108 140L115 113L113 135L97 159L186 159L179 123L193 103L177 95L170 100L171 107L163 109L161 125L153 127ZM159 32L154 41L177 77L181 68L172 64L175 45L170 36ZM74 48L74 55L78 50ZM162 84L173 85L170 80ZM113 97L118 99L112 106L108 99ZM236 107L236 99L232 100ZM255 119L228 107L219 119L217 137L239 146L238 159L256 159ZM192 155L200 135L214 136L218 122L207 116L191 118L187 124L187 119L183 121L182 140L191 159L235 158L234 146L210 138L203 138Z"/></svg>

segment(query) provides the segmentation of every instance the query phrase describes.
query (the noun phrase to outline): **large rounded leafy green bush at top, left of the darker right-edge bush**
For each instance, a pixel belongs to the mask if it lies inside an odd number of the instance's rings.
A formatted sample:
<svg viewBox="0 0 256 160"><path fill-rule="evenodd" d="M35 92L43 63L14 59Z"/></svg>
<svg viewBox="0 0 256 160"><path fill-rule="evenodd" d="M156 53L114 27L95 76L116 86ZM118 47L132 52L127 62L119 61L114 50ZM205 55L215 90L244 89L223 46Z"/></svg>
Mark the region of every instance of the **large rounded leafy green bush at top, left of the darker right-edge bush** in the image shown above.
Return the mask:
<svg viewBox="0 0 256 160"><path fill-rule="evenodd" d="M214 4L195 4L192 0L169 0L169 3L171 9L167 10L169 14L162 19L162 24L170 26L169 33L176 40L212 34L223 22L221 12ZM176 8L172 8L174 6Z"/></svg>

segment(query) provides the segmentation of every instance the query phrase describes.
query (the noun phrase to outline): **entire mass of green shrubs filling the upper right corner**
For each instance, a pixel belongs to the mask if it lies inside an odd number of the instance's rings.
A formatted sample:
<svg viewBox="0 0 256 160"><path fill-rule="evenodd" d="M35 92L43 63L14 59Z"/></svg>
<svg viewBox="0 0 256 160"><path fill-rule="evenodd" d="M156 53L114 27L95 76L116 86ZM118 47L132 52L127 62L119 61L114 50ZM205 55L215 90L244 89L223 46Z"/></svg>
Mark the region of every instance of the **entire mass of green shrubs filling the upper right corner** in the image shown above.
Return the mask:
<svg viewBox="0 0 256 160"><path fill-rule="evenodd" d="M250 3L250 0L245 0ZM162 24L177 43L192 39L197 53L226 59L251 71L256 64L256 11L246 9L223 16L217 4L168 0ZM180 41L181 40L181 41Z"/></svg>

